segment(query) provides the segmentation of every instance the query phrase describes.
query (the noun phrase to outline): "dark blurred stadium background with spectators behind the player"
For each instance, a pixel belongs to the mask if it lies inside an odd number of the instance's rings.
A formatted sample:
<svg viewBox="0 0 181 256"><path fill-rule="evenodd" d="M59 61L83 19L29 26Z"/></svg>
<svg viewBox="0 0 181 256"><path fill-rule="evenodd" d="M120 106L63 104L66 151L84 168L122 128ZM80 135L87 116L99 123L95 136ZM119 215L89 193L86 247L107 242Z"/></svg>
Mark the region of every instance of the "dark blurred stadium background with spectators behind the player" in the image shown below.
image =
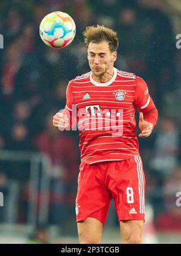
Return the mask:
<svg viewBox="0 0 181 256"><path fill-rule="evenodd" d="M56 10L77 25L62 50L39 36L40 21ZM139 140L147 181L144 241L181 241L181 1L1 0L0 243L37 243L36 231L48 243L78 243L78 135L54 129L52 115L65 106L68 81L89 70L82 32L93 24L118 32L115 66L144 78L159 110L154 132ZM103 243L119 241L112 204Z"/></svg>

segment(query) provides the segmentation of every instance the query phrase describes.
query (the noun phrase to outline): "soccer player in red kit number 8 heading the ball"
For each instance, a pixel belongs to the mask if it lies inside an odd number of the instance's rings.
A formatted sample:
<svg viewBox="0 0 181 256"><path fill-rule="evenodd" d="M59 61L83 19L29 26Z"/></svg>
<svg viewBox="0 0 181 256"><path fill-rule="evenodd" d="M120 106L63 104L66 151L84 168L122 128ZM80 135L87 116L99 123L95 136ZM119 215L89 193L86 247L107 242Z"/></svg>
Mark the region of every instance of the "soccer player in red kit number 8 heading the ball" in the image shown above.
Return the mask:
<svg viewBox="0 0 181 256"><path fill-rule="evenodd" d="M69 81L65 109L52 121L60 130L78 124L81 164L75 210L79 241L101 243L113 198L122 243L142 243L145 177L135 134L135 107L141 138L152 132L157 109L142 78L114 67L116 32L97 25L87 27L83 36L90 72Z"/></svg>

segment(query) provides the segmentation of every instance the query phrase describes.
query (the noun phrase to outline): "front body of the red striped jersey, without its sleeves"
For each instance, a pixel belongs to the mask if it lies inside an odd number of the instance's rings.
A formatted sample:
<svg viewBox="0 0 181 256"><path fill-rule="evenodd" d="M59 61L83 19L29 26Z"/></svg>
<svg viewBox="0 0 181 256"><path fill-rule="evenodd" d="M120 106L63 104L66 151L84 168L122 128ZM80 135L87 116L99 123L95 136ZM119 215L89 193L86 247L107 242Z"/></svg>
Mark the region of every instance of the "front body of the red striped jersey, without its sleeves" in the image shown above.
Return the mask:
<svg viewBox="0 0 181 256"><path fill-rule="evenodd" d="M116 70L116 69L115 69ZM92 159L95 154L138 150L135 135L136 89L135 75L116 70L108 83L98 84L90 73L77 77L71 83L74 104L78 112L81 157ZM105 141L106 140L106 141ZM100 158L100 155L99 157ZM116 159L118 154L116 155Z"/></svg>

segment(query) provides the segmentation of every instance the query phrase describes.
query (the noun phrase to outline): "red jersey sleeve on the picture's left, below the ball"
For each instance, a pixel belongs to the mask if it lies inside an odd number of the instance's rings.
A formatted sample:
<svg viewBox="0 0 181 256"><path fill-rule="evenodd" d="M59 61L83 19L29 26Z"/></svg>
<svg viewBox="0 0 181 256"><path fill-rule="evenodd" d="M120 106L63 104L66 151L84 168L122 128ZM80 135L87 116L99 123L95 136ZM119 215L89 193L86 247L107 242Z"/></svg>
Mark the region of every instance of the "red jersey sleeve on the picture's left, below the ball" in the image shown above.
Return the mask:
<svg viewBox="0 0 181 256"><path fill-rule="evenodd" d="M65 109L62 110L62 113L65 113L69 118L69 126L66 130L74 129L77 125L77 107L74 104L74 96L71 90L71 83L73 80L69 81L68 86L66 88L66 105Z"/></svg>

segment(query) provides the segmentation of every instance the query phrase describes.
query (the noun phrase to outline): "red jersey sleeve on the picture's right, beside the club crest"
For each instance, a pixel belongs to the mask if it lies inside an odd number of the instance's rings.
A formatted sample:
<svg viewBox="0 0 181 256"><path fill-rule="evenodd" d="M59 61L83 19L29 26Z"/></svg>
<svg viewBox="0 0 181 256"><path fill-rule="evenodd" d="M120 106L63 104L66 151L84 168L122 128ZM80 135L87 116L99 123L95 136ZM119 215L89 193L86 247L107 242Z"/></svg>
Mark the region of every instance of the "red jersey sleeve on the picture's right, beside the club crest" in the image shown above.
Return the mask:
<svg viewBox="0 0 181 256"><path fill-rule="evenodd" d="M149 95L147 84L139 76L136 76L134 104L138 108L138 111L143 113L144 120L152 123L154 127L157 122L158 112Z"/></svg>

